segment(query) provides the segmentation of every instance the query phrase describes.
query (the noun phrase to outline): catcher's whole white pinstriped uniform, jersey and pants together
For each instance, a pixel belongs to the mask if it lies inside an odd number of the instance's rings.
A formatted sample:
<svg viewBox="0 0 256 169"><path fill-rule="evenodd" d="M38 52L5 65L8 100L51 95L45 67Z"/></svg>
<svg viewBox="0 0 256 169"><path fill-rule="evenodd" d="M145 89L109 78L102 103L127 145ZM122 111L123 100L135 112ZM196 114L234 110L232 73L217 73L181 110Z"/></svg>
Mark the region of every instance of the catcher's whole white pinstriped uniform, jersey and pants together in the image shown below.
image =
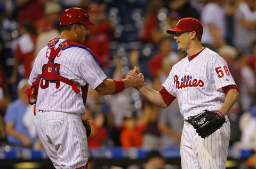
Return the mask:
<svg viewBox="0 0 256 169"><path fill-rule="evenodd" d="M58 44L63 41L60 41ZM44 47L37 55L29 77L29 85L42 73L42 67L49 60L50 50ZM48 52L48 53L47 53ZM71 47L61 50L55 57L54 64L60 64L60 75L73 80L80 86L89 84L95 89L104 79L105 73L100 69L90 52L83 48ZM36 103L36 130L39 139L55 168L84 167L88 160L86 131L81 121L85 113L82 91L76 94L73 89L60 82L49 83L46 88L39 85Z"/></svg>

